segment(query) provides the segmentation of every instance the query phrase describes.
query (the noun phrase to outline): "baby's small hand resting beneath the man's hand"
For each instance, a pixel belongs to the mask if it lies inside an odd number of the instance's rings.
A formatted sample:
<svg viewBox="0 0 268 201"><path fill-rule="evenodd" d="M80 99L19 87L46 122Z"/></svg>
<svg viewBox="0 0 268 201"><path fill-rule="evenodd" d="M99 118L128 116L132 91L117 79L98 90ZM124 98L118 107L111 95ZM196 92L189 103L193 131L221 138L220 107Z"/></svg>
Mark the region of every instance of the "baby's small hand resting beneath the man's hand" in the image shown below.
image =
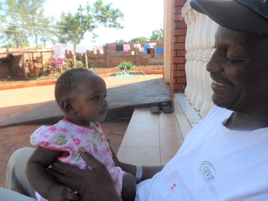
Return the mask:
<svg viewBox="0 0 268 201"><path fill-rule="evenodd" d="M77 191L70 189L67 186L61 184L55 184L47 193L48 201L59 201L59 200L80 200L77 196Z"/></svg>

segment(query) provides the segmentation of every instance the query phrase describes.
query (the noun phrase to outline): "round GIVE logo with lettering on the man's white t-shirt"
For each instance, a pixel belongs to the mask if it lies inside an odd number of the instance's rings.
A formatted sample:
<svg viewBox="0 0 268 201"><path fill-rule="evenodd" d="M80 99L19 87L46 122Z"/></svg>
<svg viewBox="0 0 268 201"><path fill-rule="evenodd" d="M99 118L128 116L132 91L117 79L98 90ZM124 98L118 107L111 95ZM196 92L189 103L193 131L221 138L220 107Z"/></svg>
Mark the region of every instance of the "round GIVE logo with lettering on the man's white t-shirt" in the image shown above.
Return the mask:
<svg viewBox="0 0 268 201"><path fill-rule="evenodd" d="M202 175L205 179L205 182L208 185L215 199L219 200L219 196L212 185L212 182L216 179L217 176L213 165L208 161L203 161L199 166L199 174Z"/></svg>

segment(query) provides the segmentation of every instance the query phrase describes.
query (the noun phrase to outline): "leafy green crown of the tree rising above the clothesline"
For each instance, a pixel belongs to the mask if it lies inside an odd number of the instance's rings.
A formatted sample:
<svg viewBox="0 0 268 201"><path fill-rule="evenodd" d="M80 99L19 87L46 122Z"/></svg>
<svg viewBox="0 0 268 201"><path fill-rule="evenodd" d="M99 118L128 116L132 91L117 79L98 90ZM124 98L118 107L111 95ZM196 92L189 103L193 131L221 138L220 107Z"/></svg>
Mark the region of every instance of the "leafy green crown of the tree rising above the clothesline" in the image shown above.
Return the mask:
<svg viewBox="0 0 268 201"><path fill-rule="evenodd" d="M63 30L67 36L64 40L78 44L84 39L84 34L87 31L91 32L94 39L97 37L94 30L99 25L122 29L123 26L119 22L123 20L124 14L119 8L111 8L111 5L112 3L104 5L102 0L98 0L91 7L87 2L85 7L82 7L82 5L78 7L74 16L68 13L60 23L65 26ZM63 40L63 37L60 38Z"/></svg>

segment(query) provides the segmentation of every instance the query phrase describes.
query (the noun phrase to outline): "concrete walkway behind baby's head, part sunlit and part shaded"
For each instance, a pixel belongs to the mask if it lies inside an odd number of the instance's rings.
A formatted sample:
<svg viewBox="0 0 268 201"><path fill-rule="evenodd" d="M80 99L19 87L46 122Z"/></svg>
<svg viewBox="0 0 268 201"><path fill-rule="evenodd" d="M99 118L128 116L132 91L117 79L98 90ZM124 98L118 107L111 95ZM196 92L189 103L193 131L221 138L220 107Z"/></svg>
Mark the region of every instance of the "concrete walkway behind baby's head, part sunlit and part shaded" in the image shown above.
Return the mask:
<svg viewBox="0 0 268 201"><path fill-rule="evenodd" d="M104 78L110 109L171 101L169 84L162 77ZM0 97L0 127L30 122L49 124L54 121L53 118L62 117L54 100L54 85L1 90Z"/></svg>

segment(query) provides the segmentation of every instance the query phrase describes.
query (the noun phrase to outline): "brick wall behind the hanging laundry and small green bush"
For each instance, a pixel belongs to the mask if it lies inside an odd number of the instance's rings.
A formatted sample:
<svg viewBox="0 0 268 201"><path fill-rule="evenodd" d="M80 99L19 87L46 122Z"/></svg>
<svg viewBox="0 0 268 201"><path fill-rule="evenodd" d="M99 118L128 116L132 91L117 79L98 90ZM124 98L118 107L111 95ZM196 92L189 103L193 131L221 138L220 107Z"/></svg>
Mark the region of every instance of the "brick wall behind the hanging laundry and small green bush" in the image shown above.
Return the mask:
<svg viewBox="0 0 268 201"><path fill-rule="evenodd" d="M132 62L131 51L135 52L134 55L134 64L136 66L140 65L159 65L163 64L163 54L156 54L155 58L151 58L149 54L144 52L139 52L138 48L133 47L133 44L141 44L141 47L144 47L146 43L156 43L156 47L163 47L163 41L160 40L151 40L151 41L134 41L134 42L126 42L126 43L116 43L116 44L129 44L130 50L127 52L116 52L115 50L107 50L104 49L104 54L94 54L93 52L87 51L88 60L94 66L98 67L115 67L118 66L121 62L130 61ZM115 43L109 43L115 44ZM77 54L77 60L81 60L85 63L85 56L81 56L81 54Z"/></svg>

